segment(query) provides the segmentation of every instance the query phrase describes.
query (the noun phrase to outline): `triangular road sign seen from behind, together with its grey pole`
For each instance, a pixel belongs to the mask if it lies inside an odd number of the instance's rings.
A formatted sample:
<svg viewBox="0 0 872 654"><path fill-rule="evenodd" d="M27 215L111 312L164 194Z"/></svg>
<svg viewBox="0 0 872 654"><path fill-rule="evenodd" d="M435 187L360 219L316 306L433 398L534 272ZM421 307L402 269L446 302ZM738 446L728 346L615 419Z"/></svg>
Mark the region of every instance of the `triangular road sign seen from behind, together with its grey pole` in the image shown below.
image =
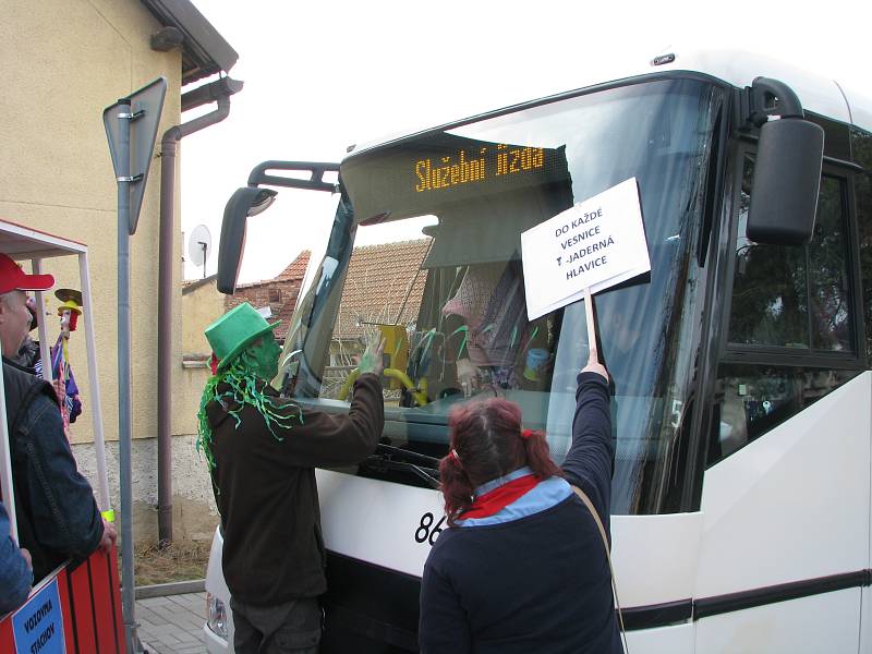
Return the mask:
<svg viewBox="0 0 872 654"><path fill-rule="evenodd" d="M142 652L136 635L133 577L133 484L131 479L131 306L130 238L136 231L167 81L121 98L104 113L109 153L118 183L118 459L121 477L121 607L124 641L131 654Z"/></svg>

